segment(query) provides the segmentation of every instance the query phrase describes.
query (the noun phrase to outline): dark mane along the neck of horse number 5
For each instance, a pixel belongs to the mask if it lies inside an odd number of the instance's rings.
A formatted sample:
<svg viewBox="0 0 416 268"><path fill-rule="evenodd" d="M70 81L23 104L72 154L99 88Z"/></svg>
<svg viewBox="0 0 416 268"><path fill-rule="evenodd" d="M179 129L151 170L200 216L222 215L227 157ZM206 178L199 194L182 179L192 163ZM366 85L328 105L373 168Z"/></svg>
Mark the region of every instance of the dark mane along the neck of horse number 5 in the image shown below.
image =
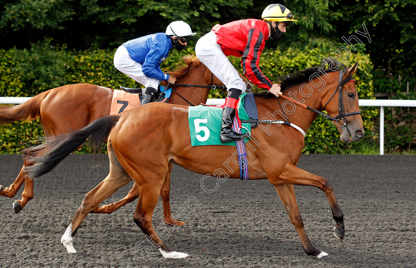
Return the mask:
<svg viewBox="0 0 416 268"><path fill-rule="evenodd" d="M339 61L335 61L334 59L323 59L323 64L328 64L328 68L323 70L320 67L309 67L305 70L299 71L297 73L291 74L289 76L286 76L285 79L280 83L280 90L284 91L286 89L290 89L296 85L303 84L306 81L309 81L309 78L316 72L318 76L322 76L324 73L331 73L335 71L345 70L348 67L344 64L340 63ZM338 65L338 68L336 70L331 70L329 66L332 64ZM342 67L342 69L340 69ZM254 93L255 96L264 97L264 98L271 98L274 97L273 94L269 94L268 91L258 92Z"/></svg>

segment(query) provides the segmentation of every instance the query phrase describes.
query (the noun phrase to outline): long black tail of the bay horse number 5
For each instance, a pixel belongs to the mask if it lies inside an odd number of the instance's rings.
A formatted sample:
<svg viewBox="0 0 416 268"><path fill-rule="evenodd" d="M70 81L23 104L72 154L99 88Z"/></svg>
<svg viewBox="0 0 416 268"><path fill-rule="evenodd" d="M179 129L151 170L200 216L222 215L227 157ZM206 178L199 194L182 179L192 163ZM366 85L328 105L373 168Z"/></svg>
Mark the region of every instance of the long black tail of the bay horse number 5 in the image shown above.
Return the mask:
<svg viewBox="0 0 416 268"><path fill-rule="evenodd" d="M81 146L88 137L90 137L88 145L97 150L120 116L109 115L97 119L82 130L48 137L44 144L27 149L24 158L31 165L25 167L25 173L29 178L34 179L50 172L65 157Z"/></svg>

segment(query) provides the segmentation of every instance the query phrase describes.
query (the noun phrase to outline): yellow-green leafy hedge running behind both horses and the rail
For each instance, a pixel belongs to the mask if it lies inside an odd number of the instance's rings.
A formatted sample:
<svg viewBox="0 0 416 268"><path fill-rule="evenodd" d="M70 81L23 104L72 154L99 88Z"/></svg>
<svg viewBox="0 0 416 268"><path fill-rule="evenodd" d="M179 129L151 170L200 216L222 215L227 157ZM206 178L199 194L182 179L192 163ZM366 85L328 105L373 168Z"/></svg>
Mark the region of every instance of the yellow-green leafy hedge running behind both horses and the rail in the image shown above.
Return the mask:
<svg viewBox="0 0 416 268"><path fill-rule="evenodd" d="M121 74L112 63L115 49L90 48L83 51L68 51L64 47L52 47L48 42L32 45L30 50L0 50L0 96L34 96L48 89L75 83L97 84L109 88L120 85L138 87L139 85ZM279 47L263 51L260 58L262 72L273 82L279 82L290 73L317 66L325 57L334 56L332 51L307 48L280 50ZM173 70L182 65L181 58L193 53L193 47L181 52L171 50L169 57L162 64L162 69ZM240 58L230 60L242 73ZM357 90L360 98L371 98L373 93L369 56L363 53L352 54L350 62L359 62ZM351 64L351 65L352 65ZM254 89L258 91L260 89ZM220 91L212 91L211 98L224 97ZM369 134L372 130L371 118L377 116L374 109L362 109L364 130ZM28 142L43 133L38 121L19 122L0 126L0 153L18 153L28 147ZM346 145L339 141L336 128L322 117L312 124L306 136L304 153L340 153L341 150L353 149L356 144ZM371 143L373 137L367 137L361 143ZM363 146L363 145L361 145ZM82 148L80 152L89 152Z"/></svg>

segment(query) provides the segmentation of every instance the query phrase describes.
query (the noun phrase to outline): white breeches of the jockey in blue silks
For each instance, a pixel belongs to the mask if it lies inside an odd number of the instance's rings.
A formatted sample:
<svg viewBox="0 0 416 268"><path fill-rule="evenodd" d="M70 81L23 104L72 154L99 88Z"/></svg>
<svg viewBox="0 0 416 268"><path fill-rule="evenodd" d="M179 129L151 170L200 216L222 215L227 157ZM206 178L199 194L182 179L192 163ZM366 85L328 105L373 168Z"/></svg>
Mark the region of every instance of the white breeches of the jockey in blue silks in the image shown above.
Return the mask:
<svg viewBox="0 0 416 268"><path fill-rule="evenodd" d="M135 62L129 55L127 48L120 45L114 54L114 66L117 70L127 75L131 79L139 82L146 88L157 89L159 81L155 78L148 78L142 71L142 64Z"/></svg>

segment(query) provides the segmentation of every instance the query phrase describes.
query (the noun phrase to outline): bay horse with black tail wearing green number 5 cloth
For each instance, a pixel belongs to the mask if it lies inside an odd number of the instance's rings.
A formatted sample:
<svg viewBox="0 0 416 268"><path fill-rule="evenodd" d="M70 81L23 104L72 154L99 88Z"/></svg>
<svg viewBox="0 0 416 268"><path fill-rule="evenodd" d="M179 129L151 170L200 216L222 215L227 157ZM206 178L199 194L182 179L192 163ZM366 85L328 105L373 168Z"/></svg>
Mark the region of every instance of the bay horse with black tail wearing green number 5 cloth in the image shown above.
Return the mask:
<svg viewBox="0 0 416 268"><path fill-rule="evenodd" d="M278 97L276 100L270 93L255 94L259 118L276 119L277 115L287 114L285 120L307 132L317 113L325 110L328 113L325 117L333 123L336 122L334 124L341 134L341 140L359 141L364 136L364 130L358 93L352 80L357 64L347 70L336 68L327 72L321 71L320 74L317 74L318 68L312 67L298 76L283 80L283 95L297 96L299 101L300 96L303 96L301 104L307 109L301 106L292 109L295 106L286 106L287 102L281 106L278 100L282 98ZM149 117L149 114L154 116ZM128 178L136 182L139 191L134 222L157 246L163 257L188 258L189 255L186 253L172 251L152 226L153 211L169 172L169 163L222 181L226 178L237 179L240 177L238 163L229 161L235 147L191 146L188 107L151 103L122 114L101 118L82 130L53 137L46 143L29 149L38 154L36 157L31 157L30 153L26 154L26 161L31 166L28 166L25 172L33 179L38 178L51 171L88 137L91 145L97 148L107 135L109 174L85 195L75 217L63 234L61 242L67 252L76 252L72 240L87 214L94 211L119 187L125 185ZM137 135L145 142L136 142ZM344 215L328 180L296 167L304 147L304 134L287 124L269 124L267 128L252 129L251 139L246 145L250 142L257 146L255 148L252 144L250 147L254 149L247 156L249 179L268 179L275 187L306 254L317 258L328 256L312 246L306 234L293 185L315 186L324 192L336 223L333 232L341 241L345 236ZM224 168L224 163L227 164L227 169Z"/></svg>

